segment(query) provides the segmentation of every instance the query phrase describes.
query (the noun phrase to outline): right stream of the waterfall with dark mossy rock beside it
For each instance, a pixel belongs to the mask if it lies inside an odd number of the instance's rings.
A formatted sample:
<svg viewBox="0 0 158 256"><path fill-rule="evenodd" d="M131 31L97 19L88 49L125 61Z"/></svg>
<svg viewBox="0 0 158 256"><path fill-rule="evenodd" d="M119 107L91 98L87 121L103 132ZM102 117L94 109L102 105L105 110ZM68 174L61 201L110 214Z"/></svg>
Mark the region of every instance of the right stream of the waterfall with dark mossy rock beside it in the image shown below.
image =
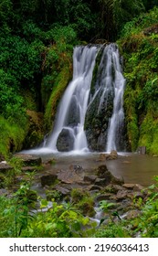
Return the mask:
<svg viewBox="0 0 158 256"><path fill-rule="evenodd" d="M91 150L123 151L122 96L125 80L121 74L119 50L116 44L100 50L100 64L86 113L87 140Z"/></svg>

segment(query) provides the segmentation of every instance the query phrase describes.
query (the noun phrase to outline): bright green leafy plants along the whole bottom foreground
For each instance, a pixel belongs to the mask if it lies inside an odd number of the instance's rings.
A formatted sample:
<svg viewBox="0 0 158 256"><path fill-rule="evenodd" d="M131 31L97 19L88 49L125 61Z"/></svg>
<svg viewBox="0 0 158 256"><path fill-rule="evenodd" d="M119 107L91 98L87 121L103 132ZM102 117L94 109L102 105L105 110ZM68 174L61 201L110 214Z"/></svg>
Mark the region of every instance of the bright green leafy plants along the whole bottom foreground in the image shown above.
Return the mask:
<svg viewBox="0 0 158 256"><path fill-rule="evenodd" d="M15 163L15 159L13 162ZM111 214L100 226L85 218L79 210L79 201L85 195L74 190L72 195L76 203L58 204L54 200L48 206L46 199L39 199L40 208L33 210L37 194L30 189L32 176L23 183L12 197L0 197L0 237L29 238L156 238L158 228L158 177L155 184L145 189L145 200L134 199L134 207L140 214L134 219L121 219L117 212ZM87 198L88 200L88 198ZM106 212L111 203L102 201L101 208ZM113 217L112 217L113 216ZM116 221L114 218L118 216Z"/></svg>

